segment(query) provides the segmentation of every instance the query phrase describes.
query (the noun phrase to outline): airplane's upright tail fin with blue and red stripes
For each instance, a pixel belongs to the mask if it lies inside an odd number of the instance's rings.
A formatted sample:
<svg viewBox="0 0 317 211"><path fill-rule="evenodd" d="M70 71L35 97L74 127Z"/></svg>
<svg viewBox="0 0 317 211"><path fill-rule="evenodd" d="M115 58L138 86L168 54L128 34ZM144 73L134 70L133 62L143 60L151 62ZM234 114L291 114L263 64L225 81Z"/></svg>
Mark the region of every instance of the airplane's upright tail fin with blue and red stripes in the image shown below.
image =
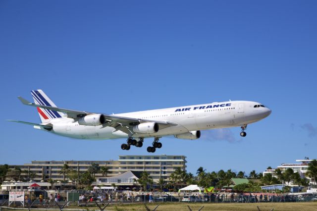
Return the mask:
<svg viewBox="0 0 317 211"><path fill-rule="evenodd" d="M53 101L40 89L31 91L35 104L56 107ZM49 122L51 119L62 118L64 114L55 110L37 107L42 123Z"/></svg>

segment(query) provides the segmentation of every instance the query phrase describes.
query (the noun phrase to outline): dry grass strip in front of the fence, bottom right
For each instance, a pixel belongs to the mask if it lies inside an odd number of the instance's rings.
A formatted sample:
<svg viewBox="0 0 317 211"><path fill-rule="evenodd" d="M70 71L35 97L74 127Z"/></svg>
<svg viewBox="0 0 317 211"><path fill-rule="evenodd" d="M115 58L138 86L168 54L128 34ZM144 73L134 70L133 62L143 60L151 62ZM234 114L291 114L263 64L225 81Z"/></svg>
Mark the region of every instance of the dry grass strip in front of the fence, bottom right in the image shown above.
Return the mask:
<svg viewBox="0 0 317 211"><path fill-rule="evenodd" d="M198 211L202 206L202 211L317 211L317 202L299 202L299 203L244 203L244 204L209 204L209 203L159 203L147 204L148 208L153 210L157 205L157 211ZM91 208L91 210L93 210ZM144 204L129 205L111 205L106 208L107 211L146 211Z"/></svg>

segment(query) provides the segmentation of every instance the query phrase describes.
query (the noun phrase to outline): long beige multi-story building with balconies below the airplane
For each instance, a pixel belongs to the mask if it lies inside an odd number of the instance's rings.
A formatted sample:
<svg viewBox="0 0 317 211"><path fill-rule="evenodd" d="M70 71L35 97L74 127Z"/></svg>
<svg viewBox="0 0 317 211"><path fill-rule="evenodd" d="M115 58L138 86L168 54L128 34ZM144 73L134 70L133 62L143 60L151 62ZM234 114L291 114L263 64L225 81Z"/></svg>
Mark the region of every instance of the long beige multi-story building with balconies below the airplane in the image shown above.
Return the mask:
<svg viewBox="0 0 317 211"><path fill-rule="evenodd" d="M118 160L63 160L63 161L38 161L33 160L31 163L23 165L10 165L10 169L19 167L22 170L21 178L27 178L27 173L24 170L35 173L32 180L36 182L53 180L68 180L67 175L61 174L61 169L64 164L67 164L70 169L76 170L79 173L84 173L88 170L92 163L98 163L100 167L108 167L106 176L115 176L122 174L128 170L131 171L147 171L153 180L156 182L159 178L168 181L170 174L178 167L186 171L186 156L119 156ZM96 173L96 178L105 177L102 173ZM11 179L11 178L7 178ZM22 180L22 179L21 179Z"/></svg>

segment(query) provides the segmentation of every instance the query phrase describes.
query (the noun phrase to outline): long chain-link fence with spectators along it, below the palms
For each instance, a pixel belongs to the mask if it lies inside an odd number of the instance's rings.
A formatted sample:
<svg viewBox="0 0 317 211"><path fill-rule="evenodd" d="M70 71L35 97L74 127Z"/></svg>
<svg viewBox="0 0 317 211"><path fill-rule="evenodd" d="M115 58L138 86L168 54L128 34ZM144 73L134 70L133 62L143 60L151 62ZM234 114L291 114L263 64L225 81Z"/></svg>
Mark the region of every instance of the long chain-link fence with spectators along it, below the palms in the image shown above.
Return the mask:
<svg viewBox="0 0 317 211"><path fill-rule="evenodd" d="M42 198L40 197L42 194ZM88 207L100 207L107 204L130 203L284 203L284 202L311 202L317 201L317 194L275 195L275 194L233 194L233 193L150 193L132 191L59 191L26 193L25 210L86 210ZM58 196L59 197L56 197ZM97 205L98 204L98 205ZM22 209L20 203L8 205L8 199L0 202L0 211L9 211L14 208ZM101 209L102 210L102 209Z"/></svg>

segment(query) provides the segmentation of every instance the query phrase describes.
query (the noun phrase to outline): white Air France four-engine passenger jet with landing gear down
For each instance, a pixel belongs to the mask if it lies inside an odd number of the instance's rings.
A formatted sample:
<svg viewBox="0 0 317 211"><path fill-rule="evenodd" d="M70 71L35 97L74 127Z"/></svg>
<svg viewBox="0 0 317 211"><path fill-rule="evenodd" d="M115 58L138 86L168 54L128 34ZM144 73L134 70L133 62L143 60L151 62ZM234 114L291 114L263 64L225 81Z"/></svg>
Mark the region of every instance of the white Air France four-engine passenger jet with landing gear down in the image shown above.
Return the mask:
<svg viewBox="0 0 317 211"><path fill-rule="evenodd" d="M267 117L271 110L252 101L214 102L193 106L170 107L129 113L104 114L57 107L42 91L31 91L34 103L18 97L22 104L34 106L42 123L7 120L33 125L35 129L57 135L89 140L127 138L122 150L142 147L145 138L154 138L147 148L154 153L162 144L159 139L173 135L178 139L199 139L201 130L241 127L240 135L250 123Z"/></svg>

